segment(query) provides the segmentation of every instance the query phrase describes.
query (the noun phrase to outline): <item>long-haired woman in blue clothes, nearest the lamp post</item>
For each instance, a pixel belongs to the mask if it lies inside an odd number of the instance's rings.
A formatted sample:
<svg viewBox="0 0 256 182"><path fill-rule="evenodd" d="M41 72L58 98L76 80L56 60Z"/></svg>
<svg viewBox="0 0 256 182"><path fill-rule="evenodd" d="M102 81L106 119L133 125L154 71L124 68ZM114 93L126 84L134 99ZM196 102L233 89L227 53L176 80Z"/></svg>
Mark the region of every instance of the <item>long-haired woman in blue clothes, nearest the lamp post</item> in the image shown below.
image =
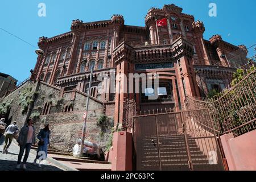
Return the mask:
<svg viewBox="0 0 256 182"><path fill-rule="evenodd" d="M41 167L40 156L43 154L43 160L47 158L47 147L49 144L49 135L51 134L51 131L49 131L49 124L44 123L44 129L41 129L38 134L38 151L36 152L36 158L34 160L34 165L36 165L36 160L39 160L38 167ZM40 152L40 154L39 154Z"/></svg>

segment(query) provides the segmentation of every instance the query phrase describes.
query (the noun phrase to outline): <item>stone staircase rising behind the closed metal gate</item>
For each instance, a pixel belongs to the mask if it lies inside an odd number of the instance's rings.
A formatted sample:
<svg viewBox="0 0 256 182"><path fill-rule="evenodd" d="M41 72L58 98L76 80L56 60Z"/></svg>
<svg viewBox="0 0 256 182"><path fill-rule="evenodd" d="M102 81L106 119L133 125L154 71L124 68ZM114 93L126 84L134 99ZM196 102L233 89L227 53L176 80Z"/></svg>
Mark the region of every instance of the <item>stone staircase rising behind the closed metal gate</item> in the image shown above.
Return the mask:
<svg viewBox="0 0 256 182"><path fill-rule="evenodd" d="M154 143L152 142L154 140ZM220 170L222 169L218 164L209 164L207 156L203 154L199 146L197 146L196 140L187 135L189 151L191 153L193 169L194 170ZM159 137L159 149L157 145L157 138L155 137L143 137L141 142L138 143L142 148L143 156L137 160L141 164L139 170L158 170L159 167L159 153L162 164L162 170L189 170L187 147L185 143L184 135L162 135ZM138 153L138 152L137 152Z"/></svg>

